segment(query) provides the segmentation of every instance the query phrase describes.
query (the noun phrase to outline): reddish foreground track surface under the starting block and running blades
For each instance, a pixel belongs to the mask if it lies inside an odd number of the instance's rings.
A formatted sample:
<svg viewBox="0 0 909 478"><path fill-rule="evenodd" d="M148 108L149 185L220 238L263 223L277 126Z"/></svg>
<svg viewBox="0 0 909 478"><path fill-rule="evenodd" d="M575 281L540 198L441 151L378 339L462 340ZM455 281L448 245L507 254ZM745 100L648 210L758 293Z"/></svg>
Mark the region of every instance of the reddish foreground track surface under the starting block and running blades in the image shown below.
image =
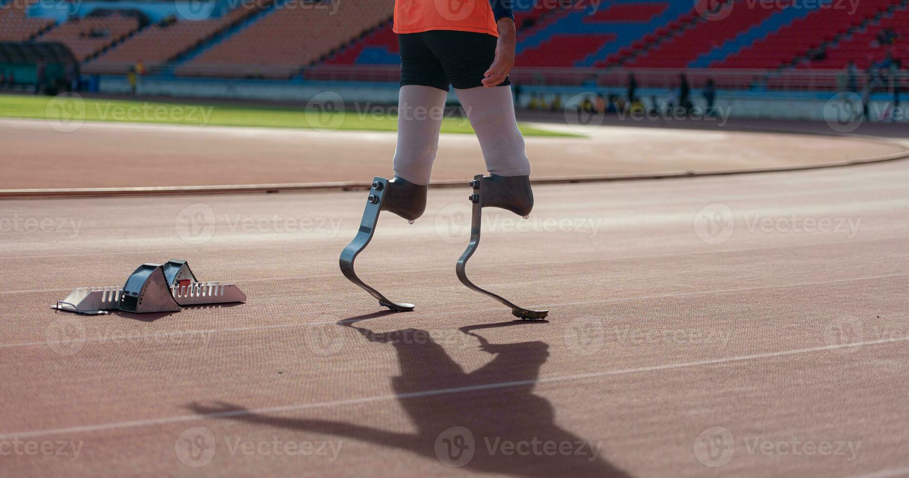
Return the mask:
<svg viewBox="0 0 909 478"><path fill-rule="evenodd" d="M338 271L362 192L5 201L55 225L2 234L0 474L902 476L906 184L897 161L538 186L527 222L486 210L468 274L547 323L455 278L467 186L383 213L357 263L407 314ZM48 308L169 258L248 303Z"/></svg>

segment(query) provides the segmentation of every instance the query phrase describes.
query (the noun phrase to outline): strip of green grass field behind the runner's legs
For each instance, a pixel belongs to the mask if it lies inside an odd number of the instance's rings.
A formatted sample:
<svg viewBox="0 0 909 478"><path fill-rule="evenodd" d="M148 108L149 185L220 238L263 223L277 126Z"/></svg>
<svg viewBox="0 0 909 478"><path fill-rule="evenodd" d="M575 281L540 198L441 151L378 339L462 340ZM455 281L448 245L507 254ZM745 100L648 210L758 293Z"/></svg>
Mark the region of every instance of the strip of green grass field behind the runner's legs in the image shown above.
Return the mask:
<svg viewBox="0 0 909 478"><path fill-rule="evenodd" d="M128 100L82 99L31 95L0 95L0 117L37 118L68 124L72 121L113 121L125 123L192 124L197 126L263 126L273 128L312 128L322 131L360 130L395 131L396 111L376 105L347 107L334 111L331 104L319 113L304 107L261 105L186 105L181 103ZM419 115L419 113L415 113ZM520 124L527 136L579 136ZM465 117L447 115L443 133L472 134Z"/></svg>

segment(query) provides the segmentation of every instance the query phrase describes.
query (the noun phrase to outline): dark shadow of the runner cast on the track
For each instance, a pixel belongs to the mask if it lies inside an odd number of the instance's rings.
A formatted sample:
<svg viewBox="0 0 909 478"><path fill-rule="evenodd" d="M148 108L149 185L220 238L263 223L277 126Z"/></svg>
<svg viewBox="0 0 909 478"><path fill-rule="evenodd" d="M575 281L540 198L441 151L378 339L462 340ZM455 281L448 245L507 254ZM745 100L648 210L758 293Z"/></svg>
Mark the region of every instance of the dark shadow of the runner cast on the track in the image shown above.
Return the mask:
<svg viewBox="0 0 909 478"><path fill-rule="evenodd" d="M379 315L367 314L338 324L355 329L370 343L395 347L401 374L392 378L392 385L415 424L416 433L390 432L357 423L244 413L245 408L230 403L214 407L193 403L188 408L200 414L224 413L222 417L232 420L334 434L406 450L449 466L461 466L465 471L547 478L628 476L605 460L600 443L557 426L552 403L534 395L540 367L549 357L548 344L490 344L474 333L485 328L540 323L513 321L462 327L461 332L477 338L480 350L494 355L490 363L465 373L424 330L377 334L354 325L375 316ZM503 383L506 384L502 386Z"/></svg>

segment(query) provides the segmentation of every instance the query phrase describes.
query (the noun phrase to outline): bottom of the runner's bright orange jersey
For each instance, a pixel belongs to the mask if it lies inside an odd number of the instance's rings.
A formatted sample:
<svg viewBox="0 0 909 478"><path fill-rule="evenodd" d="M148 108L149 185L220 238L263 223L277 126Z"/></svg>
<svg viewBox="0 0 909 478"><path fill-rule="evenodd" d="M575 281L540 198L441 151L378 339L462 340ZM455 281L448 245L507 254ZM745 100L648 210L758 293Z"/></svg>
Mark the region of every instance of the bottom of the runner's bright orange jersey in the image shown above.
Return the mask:
<svg viewBox="0 0 909 478"><path fill-rule="evenodd" d="M395 0L395 33L457 30L499 35L489 0Z"/></svg>

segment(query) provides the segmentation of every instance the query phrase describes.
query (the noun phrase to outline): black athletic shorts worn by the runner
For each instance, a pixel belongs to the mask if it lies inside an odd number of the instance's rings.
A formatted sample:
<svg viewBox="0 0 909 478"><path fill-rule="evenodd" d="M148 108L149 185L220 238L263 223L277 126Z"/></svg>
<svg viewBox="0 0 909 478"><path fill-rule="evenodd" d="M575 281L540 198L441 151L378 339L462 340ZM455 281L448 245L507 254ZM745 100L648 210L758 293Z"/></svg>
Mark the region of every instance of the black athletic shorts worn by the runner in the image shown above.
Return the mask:
<svg viewBox="0 0 909 478"><path fill-rule="evenodd" d="M455 30L430 30L398 35L401 46L401 85L433 86L448 91L483 86L493 65L496 37ZM500 86L511 85L505 77Z"/></svg>

